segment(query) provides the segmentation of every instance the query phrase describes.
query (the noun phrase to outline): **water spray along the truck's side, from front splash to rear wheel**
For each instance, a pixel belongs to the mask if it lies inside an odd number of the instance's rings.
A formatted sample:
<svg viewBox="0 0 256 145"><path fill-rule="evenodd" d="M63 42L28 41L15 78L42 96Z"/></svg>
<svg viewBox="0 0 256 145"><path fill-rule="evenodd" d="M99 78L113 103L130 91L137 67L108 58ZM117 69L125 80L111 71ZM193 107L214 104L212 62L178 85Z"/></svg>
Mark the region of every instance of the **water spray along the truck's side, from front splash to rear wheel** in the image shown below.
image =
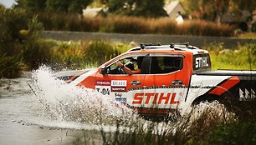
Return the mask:
<svg viewBox="0 0 256 145"><path fill-rule="evenodd" d="M213 122L229 122L235 115L218 102L203 102L191 108L177 122L149 122L137 117L128 107L115 102L113 98L101 95L92 89L71 86L53 77L49 67L39 67L33 72L33 91L44 111L51 118L64 122L79 122L102 125L119 125L136 130L141 124L146 132L151 124L158 133L187 132L196 124L205 124L206 128ZM120 129L120 128L115 128ZM121 128L124 130L124 128ZM122 132L122 131L120 131Z"/></svg>

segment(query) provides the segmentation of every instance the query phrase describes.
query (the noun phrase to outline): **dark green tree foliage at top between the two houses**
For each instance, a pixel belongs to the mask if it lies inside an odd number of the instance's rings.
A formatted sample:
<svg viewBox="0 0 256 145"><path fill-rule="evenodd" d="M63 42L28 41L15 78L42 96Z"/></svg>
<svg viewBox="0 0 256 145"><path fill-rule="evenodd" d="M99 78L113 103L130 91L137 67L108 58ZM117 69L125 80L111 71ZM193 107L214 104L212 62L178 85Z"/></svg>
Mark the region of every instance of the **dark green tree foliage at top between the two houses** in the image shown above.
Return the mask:
<svg viewBox="0 0 256 145"><path fill-rule="evenodd" d="M102 0L110 13L157 18L166 16L164 0Z"/></svg>

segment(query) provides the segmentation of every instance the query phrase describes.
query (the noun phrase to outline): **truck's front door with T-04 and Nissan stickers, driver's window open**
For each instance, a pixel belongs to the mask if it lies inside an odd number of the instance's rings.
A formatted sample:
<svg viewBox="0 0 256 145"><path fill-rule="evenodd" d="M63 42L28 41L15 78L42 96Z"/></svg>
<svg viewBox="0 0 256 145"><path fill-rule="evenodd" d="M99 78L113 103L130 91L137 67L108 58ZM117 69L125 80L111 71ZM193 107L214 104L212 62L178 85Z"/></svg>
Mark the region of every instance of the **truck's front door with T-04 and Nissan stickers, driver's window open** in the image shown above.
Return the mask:
<svg viewBox="0 0 256 145"><path fill-rule="evenodd" d="M142 87L146 74L129 75L121 67L118 67L116 62L120 61L125 67L136 70L138 69L136 64L137 57L126 56L116 59L105 66L105 74L100 71L97 72L95 76L95 90L101 92L103 95L114 97L116 101L126 103L126 92Z"/></svg>

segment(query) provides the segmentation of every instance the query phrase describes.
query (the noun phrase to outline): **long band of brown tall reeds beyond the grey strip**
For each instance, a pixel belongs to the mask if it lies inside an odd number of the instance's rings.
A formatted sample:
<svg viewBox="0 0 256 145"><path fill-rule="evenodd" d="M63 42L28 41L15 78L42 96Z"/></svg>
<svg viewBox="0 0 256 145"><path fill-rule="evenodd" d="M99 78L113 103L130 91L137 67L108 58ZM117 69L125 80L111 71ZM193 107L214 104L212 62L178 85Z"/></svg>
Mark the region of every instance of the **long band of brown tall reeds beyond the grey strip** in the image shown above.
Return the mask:
<svg viewBox="0 0 256 145"><path fill-rule="evenodd" d="M84 18L74 14L40 13L39 20L47 30L156 33L169 35L233 36L233 28L202 20L187 20L177 25L171 18L136 18L109 16Z"/></svg>

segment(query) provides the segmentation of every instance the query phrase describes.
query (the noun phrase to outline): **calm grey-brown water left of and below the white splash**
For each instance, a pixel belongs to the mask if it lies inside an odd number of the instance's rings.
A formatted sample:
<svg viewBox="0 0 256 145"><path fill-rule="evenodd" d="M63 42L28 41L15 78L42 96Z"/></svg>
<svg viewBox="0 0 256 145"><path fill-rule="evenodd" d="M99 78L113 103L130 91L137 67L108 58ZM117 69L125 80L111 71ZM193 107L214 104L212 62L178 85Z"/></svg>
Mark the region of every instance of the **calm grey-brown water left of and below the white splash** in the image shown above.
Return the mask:
<svg viewBox="0 0 256 145"><path fill-rule="evenodd" d="M29 76L1 80L0 144L75 144L90 137L87 143L101 142L98 133L81 131L79 124L44 116L42 104L28 87Z"/></svg>

